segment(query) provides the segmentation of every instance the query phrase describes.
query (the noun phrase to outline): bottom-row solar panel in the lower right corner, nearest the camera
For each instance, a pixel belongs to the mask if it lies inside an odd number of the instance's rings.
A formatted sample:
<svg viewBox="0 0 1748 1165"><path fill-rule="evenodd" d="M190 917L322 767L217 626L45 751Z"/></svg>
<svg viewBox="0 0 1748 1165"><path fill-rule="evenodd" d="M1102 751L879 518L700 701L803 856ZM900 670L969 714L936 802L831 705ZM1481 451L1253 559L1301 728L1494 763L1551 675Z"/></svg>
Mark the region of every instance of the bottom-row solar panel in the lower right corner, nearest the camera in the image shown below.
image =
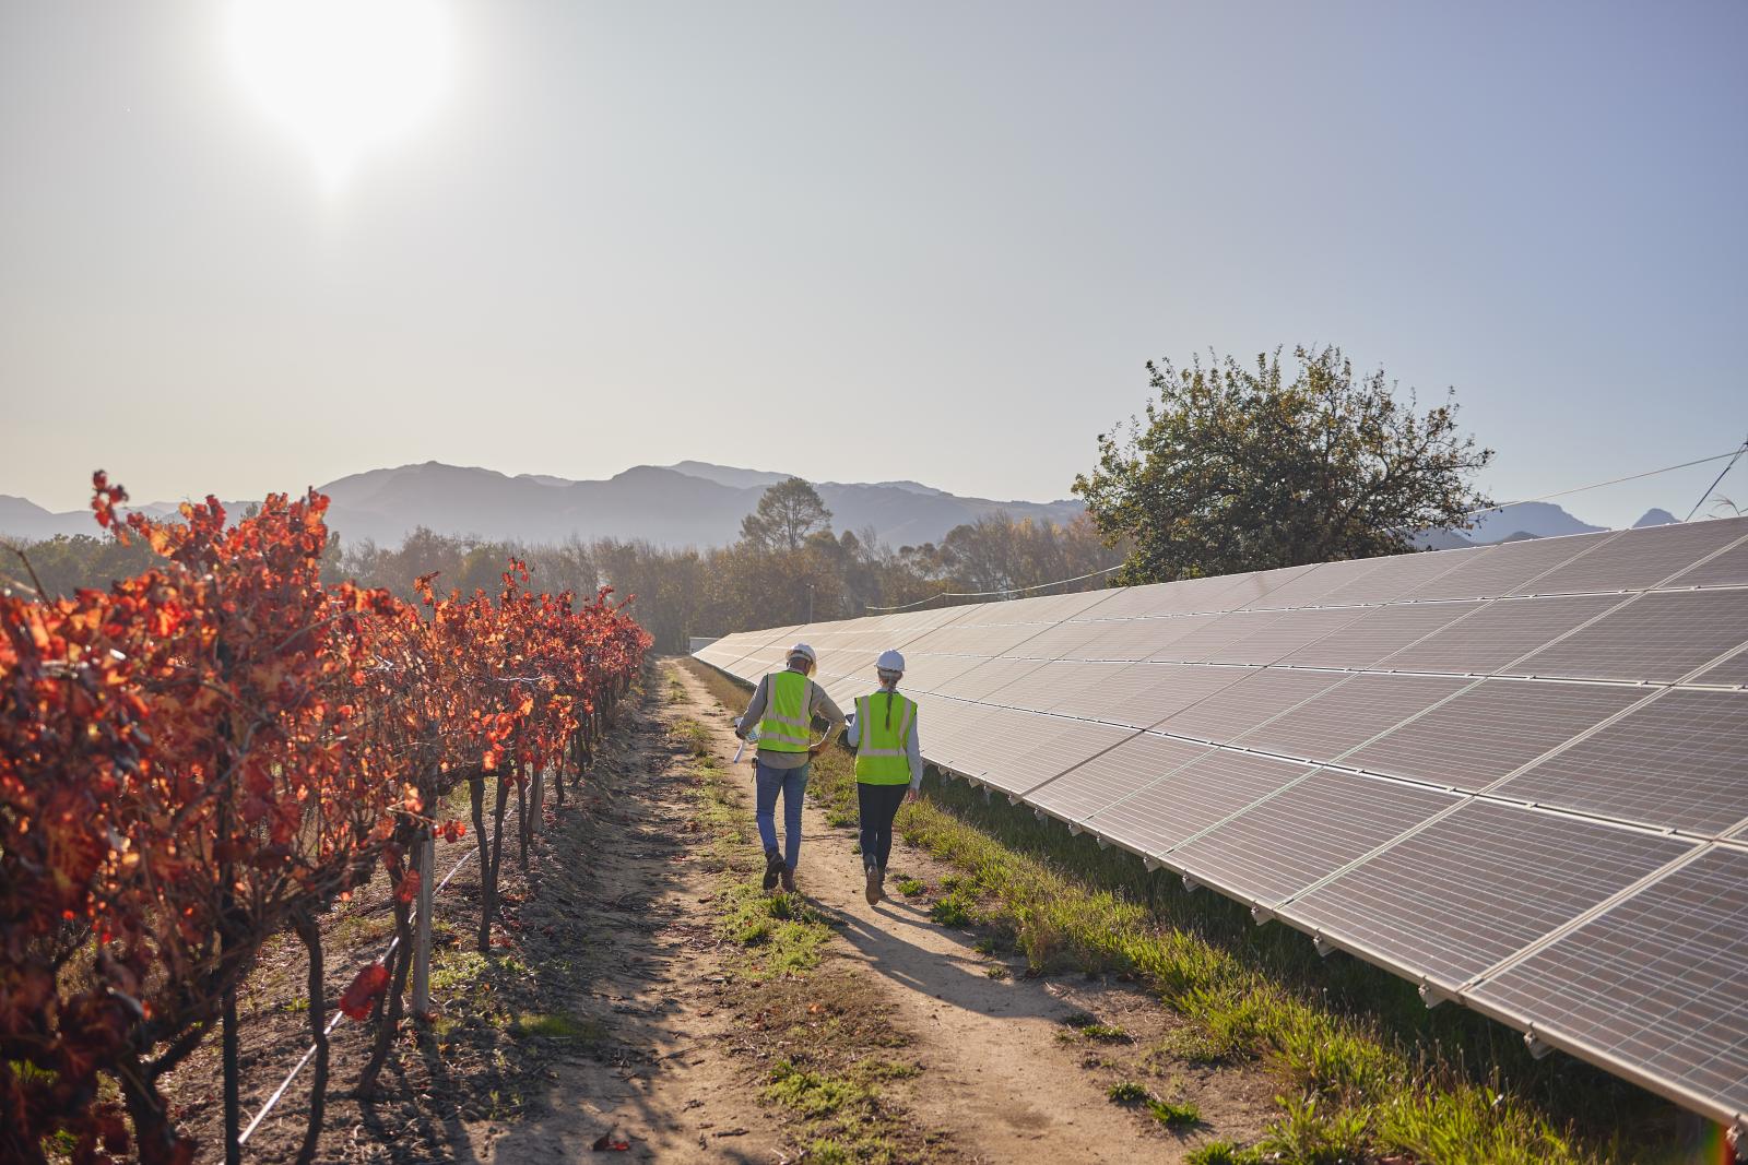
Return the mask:
<svg viewBox="0 0 1748 1165"><path fill-rule="evenodd" d="M1713 1120L1748 1113L1748 852L1699 854L1468 996Z"/></svg>

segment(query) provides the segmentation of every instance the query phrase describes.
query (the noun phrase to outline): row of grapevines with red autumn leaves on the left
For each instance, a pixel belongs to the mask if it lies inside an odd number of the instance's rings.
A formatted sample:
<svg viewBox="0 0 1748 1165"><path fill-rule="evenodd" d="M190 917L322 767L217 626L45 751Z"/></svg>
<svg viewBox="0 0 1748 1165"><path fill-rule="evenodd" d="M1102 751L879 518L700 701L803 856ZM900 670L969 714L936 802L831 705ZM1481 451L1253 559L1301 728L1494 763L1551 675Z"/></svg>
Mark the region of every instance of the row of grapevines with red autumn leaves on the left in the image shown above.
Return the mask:
<svg viewBox="0 0 1748 1165"><path fill-rule="evenodd" d="M608 590L540 594L521 562L498 594L423 578L416 604L323 583L315 491L234 522L215 498L180 520L122 515L126 498L93 477L98 524L152 569L0 594L0 1158L42 1162L54 1139L82 1162L191 1160L159 1083L215 1029L234 1039L239 982L292 931L318 1046L309 1160L329 1072L316 919L386 872L402 941L339 1001L378 1022L367 1092L404 1010L413 854L465 831L442 798L470 784L489 950L509 798L526 861L530 791L580 779L650 641Z"/></svg>

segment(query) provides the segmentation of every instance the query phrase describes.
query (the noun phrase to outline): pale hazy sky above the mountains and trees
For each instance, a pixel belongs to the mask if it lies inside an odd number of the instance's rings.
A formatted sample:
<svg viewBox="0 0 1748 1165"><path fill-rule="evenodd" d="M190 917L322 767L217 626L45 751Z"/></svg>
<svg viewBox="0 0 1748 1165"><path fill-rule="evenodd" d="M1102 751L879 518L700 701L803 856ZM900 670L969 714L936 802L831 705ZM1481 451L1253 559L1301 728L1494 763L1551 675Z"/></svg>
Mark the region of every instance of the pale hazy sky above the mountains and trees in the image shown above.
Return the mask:
<svg viewBox="0 0 1748 1165"><path fill-rule="evenodd" d="M1147 358L1299 342L1454 384L1502 500L1748 430L1741 0L402 7L353 100L227 5L0 0L0 493L1042 500Z"/></svg>

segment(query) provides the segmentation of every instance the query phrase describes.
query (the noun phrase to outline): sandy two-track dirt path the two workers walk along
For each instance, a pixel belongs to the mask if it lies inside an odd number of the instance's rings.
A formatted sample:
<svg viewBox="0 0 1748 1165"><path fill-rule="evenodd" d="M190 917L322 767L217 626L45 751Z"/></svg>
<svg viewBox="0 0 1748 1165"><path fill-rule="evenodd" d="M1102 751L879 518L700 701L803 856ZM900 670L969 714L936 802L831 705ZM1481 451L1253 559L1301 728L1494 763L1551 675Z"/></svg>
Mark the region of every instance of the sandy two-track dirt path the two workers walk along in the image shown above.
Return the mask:
<svg viewBox="0 0 1748 1165"><path fill-rule="evenodd" d="M551 1114L519 1123L493 1146L498 1162L556 1162L589 1156L603 1132L633 1155L664 1162L776 1162L776 1118L757 1104L755 1065L736 1057L729 1017L717 1008L722 968L710 941L711 875L687 861L696 837L683 788L683 756L662 748L659 728L690 716L715 730L722 760L732 756L727 714L703 685L678 667L683 700L654 711L640 756L640 788L608 788L624 816L617 840L601 838L589 870L591 898L622 903L577 934L591 948L622 952L624 969L598 996L612 1004L610 1037L619 1055L559 1067ZM668 688L668 679L662 681ZM734 770L750 805L752 770ZM748 809L750 812L750 809ZM1096 1072L1098 1048L1077 1041L1065 1020L1157 1013L1126 985L1073 985L995 978L996 964L974 950L974 936L933 924L905 901L869 906L862 898L853 831L827 826L809 805L801 889L839 922L832 959L860 969L867 990L907 1029L907 1050L923 1069L905 1100L918 1121L944 1134L940 1156L975 1162L1031 1158L1073 1162L1180 1160L1203 1135L1169 1134L1145 1114L1113 1106ZM893 866L939 879L916 852ZM996 969L996 975L1003 975ZM1204 1109L1206 1111L1206 1109Z"/></svg>

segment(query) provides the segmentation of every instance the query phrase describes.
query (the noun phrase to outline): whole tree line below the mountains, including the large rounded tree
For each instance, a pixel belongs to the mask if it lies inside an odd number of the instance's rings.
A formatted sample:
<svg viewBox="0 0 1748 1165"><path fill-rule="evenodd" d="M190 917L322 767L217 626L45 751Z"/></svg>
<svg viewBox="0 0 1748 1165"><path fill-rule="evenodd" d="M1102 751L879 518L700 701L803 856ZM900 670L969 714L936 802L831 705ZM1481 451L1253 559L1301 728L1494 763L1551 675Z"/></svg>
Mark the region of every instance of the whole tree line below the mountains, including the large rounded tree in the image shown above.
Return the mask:
<svg viewBox="0 0 1748 1165"><path fill-rule="evenodd" d="M834 529L818 491L788 479L720 547L530 545L420 527L399 547L341 540L325 576L413 597L414 580L437 571L442 587L489 592L516 557L554 590L636 596L657 646L678 651L689 636L850 618L940 592L1017 594L1115 566L1065 589L1402 554L1418 531L1468 529L1491 505L1474 477L1493 452L1460 431L1454 393L1423 410L1412 389L1381 369L1355 372L1337 348L1250 362L1210 353L1147 372L1145 412L1098 438L1096 466L1073 482L1087 512L1065 526L991 514L940 541L891 547ZM136 548L98 538L26 550L56 594L145 568Z"/></svg>

